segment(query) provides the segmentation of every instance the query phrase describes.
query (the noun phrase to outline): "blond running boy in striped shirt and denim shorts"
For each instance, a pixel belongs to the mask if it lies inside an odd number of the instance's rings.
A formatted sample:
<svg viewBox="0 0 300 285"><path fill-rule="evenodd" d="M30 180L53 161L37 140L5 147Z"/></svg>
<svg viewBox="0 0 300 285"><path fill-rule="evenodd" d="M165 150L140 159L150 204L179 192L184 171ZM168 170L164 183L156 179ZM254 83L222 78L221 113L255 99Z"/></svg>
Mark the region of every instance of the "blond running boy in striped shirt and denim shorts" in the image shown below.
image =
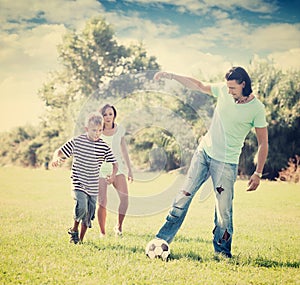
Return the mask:
<svg viewBox="0 0 300 285"><path fill-rule="evenodd" d="M74 225L68 230L70 242L83 241L87 228L95 217L96 201L99 188L99 170L104 161L113 164L107 183L112 183L118 170L117 161L110 147L100 139L103 130L103 117L90 114L85 123L86 133L72 138L55 151L52 166L57 167L66 158L73 156L72 184L74 206ZM78 231L81 222L80 235Z"/></svg>

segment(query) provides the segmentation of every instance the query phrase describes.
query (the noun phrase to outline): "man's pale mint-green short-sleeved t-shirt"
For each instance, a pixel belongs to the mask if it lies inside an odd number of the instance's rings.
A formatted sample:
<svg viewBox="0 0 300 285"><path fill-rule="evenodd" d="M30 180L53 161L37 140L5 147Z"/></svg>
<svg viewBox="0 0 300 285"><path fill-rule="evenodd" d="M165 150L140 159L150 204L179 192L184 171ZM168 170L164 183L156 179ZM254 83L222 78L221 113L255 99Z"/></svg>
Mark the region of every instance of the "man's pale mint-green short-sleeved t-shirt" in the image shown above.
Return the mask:
<svg viewBox="0 0 300 285"><path fill-rule="evenodd" d="M244 140L249 131L267 126L265 107L254 98L245 104L236 104L226 84L211 86L217 97L210 128L199 147L215 160L238 164Z"/></svg>

